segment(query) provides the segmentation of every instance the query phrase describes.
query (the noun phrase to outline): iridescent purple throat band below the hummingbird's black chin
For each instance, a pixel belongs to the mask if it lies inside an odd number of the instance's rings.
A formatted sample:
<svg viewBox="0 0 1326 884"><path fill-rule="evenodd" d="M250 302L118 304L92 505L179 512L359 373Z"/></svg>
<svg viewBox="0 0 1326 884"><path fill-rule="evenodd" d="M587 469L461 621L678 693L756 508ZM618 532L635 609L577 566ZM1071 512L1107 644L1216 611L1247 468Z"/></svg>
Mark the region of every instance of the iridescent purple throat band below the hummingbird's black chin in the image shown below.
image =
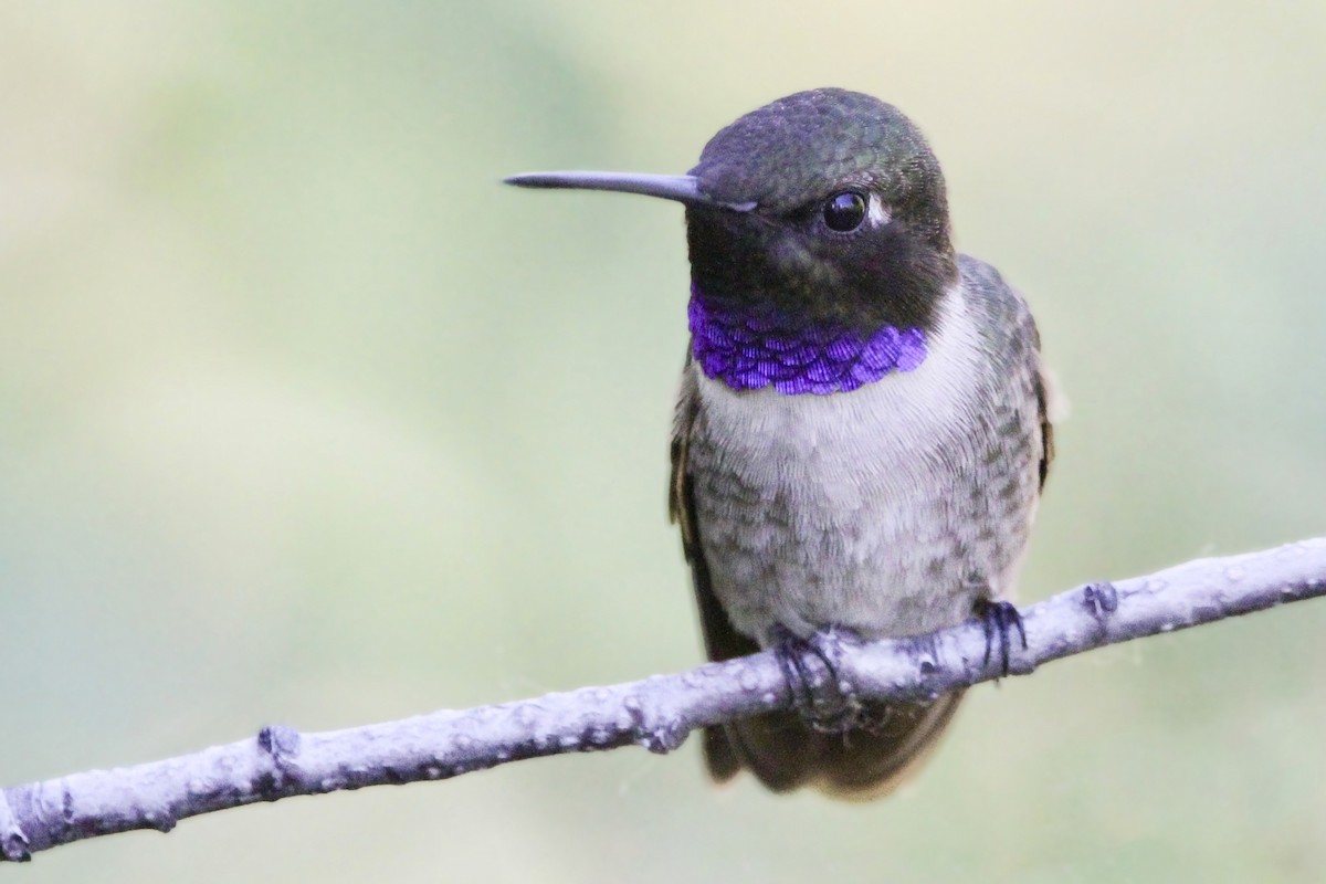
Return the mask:
<svg viewBox="0 0 1326 884"><path fill-rule="evenodd" d="M773 305L721 304L691 286L691 354L732 390L773 387L785 395L847 392L926 360L923 329L873 331L797 321Z"/></svg>

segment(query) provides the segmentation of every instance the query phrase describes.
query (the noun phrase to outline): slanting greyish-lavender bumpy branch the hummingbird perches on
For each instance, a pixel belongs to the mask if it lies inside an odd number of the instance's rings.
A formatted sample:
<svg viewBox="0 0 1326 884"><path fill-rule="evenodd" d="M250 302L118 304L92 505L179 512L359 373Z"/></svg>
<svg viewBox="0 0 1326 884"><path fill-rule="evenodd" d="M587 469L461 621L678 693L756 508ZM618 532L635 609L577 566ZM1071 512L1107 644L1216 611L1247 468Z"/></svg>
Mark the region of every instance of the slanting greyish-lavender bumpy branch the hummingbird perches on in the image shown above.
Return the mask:
<svg viewBox="0 0 1326 884"><path fill-rule="evenodd" d="M1326 538L1199 559L1026 608L1028 648L1012 671L1130 639L1326 595ZM1001 675L969 622L932 635L842 645L838 676L861 698L915 700ZM680 675L534 700L442 710L363 728L257 738L134 767L93 770L0 791L0 859L290 795L447 779L509 761L640 745L667 753L696 728L790 705L770 652Z"/></svg>

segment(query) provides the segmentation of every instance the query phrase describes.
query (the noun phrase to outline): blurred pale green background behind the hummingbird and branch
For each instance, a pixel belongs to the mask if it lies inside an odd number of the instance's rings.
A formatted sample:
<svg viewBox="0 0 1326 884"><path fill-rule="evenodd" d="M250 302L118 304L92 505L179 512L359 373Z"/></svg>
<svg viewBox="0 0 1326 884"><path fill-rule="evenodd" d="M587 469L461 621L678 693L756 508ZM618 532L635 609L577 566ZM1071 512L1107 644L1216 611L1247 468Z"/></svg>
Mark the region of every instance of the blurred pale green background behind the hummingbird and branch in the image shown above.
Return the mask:
<svg viewBox="0 0 1326 884"><path fill-rule="evenodd" d="M1022 598L1326 533L1326 5L0 8L0 782L700 660L664 513L684 171L841 85L1073 403ZM1326 606L972 692L903 794L691 741L249 807L29 881L1326 876Z"/></svg>

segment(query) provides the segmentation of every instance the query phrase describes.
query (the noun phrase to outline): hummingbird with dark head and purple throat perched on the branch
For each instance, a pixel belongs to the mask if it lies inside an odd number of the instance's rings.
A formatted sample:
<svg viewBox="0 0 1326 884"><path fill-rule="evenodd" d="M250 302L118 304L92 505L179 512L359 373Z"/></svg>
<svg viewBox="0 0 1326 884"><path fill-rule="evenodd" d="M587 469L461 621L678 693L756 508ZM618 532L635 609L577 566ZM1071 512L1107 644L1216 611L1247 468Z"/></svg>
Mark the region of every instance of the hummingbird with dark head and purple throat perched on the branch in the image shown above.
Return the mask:
<svg viewBox="0 0 1326 884"><path fill-rule="evenodd" d="M686 208L670 509L711 660L774 648L806 676L825 636L975 616L1006 673L1022 628L1009 598L1053 457L1050 388L1026 302L956 253L939 160L902 111L814 89L720 130L686 175L507 182ZM874 798L960 698L846 716L798 704L707 728L705 763L717 782L748 769L773 791Z"/></svg>

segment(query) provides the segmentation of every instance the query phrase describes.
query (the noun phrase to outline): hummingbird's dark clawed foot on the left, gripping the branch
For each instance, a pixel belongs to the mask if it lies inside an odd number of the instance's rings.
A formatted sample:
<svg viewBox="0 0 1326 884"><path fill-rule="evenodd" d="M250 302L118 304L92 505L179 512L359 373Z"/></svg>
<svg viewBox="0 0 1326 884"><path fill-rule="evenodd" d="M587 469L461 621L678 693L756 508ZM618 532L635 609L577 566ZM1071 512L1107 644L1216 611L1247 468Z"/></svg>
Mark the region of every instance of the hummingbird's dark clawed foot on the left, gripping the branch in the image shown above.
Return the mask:
<svg viewBox="0 0 1326 884"><path fill-rule="evenodd" d="M809 639L780 627L773 653L792 694L792 705L814 730L842 733L854 728L862 704L838 675L838 659L847 641L858 640L842 627L829 627Z"/></svg>

